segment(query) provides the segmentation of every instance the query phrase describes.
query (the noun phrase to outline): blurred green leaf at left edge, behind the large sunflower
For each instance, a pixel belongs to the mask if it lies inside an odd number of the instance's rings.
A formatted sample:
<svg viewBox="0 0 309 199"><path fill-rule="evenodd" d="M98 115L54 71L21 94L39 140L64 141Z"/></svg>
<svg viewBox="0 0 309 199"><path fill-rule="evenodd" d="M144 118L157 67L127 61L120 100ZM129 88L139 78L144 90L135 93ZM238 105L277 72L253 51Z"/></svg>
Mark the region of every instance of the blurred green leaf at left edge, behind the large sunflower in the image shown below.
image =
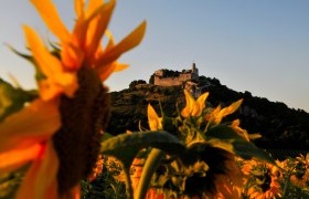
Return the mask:
<svg viewBox="0 0 309 199"><path fill-rule="evenodd" d="M0 78L0 122L20 111L24 103L31 102L35 97L38 97L36 91L17 88Z"/></svg>

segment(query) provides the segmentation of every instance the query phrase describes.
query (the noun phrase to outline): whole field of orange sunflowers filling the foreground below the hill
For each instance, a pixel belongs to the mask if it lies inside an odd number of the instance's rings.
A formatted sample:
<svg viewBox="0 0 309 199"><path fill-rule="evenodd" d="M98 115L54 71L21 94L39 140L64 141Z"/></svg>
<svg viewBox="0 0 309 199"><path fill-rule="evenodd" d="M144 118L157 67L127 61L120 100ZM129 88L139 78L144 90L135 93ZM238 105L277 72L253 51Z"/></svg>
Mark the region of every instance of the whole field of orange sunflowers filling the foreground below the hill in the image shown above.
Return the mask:
<svg viewBox="0 0 309 199"><path fill-rule="evenodd" d="M116 43L107 30L116 0L74 0L72 31L51 0L30 0L57 39L45 44L23 25L36 90L0 82L0 198L185 199L309 198L309 155L283 161L256 147L241 121L243 100L207 107L184 90L185 107L170 117L148 105L148 126L111 136L105 80L128 65L141 22ZM102 39L107 43L103 45Z"/></svg>

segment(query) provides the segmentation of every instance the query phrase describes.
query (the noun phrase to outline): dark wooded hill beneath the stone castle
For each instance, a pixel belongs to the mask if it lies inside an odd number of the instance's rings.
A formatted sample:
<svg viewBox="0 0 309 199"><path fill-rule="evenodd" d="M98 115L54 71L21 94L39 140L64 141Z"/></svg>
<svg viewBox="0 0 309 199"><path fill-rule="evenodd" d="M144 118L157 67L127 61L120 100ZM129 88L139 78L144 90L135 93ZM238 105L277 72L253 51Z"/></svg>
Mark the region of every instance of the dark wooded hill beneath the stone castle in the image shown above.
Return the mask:
<svg viewBox="0 0 309 199"><path fill-rule="evenodd" d="M169 72L174 75L177 72ZM128 88L111 92L111 117L107 132L120 134L126 130L138 130L139 125L147 128L147 105L151 103L158 113L159 102L167 115L177 115L184 107L183 88L188 81L179 85L160 86L146 81L132 81ZM192 84L189 84L192 85ZM188 87L187 87L188 88ZM307 149L309 145L309 114L302 109L289 108L281 102L270 102L265 97L253 96L249 92L236 92L222 85L217 78L199 76L194 86L189 87L199 93L210 92L207 106L222 107L244 98L237 113L227 119L239 118L241 126L249 133L259 133L263 138L255 144L263 148ZM196 93L195 93L196 94Z"/></svg>

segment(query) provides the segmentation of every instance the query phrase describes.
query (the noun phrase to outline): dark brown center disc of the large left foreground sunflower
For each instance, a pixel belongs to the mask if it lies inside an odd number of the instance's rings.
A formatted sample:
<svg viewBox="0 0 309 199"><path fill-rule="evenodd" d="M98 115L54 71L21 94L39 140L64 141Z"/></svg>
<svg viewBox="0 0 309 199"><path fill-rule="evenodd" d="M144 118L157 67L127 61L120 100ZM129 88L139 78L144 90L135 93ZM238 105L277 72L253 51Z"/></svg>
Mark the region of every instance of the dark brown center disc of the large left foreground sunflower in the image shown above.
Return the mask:
<svg viewBox="0 0 309 199"><path fill-rule="evenodd" d="M109 117L107 88L103 87L95 71L82 67L78 84L73 98L61 98L62 127L53 136L60 158L60 193L72 189L90 174L99 153L99 132L106 127Z"/></svg>

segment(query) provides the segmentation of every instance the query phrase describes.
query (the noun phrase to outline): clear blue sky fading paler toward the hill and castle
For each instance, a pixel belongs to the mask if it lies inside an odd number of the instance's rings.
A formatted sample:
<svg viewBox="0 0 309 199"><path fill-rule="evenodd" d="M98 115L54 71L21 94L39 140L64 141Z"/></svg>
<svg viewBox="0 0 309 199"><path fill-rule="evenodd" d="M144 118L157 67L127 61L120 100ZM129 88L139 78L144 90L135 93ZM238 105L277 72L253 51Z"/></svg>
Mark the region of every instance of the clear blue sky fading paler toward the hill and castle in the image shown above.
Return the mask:
<svg viewBox="0 0 309 199"><path fill-rule="evenodd" d="M30 1L1 2L0 76L33 88L33 66L6 43L26 52L22 24L54 38ZM72 28L73 1L53 2ZM116 42L143 20L148 27L142 43L119 59L130 67L105 84L119 91L134 80L148 82L156 70L182 71L194 62L200 75L232 90L309 112L308 8L308 0L118 0L108 27Z"/></svg>

